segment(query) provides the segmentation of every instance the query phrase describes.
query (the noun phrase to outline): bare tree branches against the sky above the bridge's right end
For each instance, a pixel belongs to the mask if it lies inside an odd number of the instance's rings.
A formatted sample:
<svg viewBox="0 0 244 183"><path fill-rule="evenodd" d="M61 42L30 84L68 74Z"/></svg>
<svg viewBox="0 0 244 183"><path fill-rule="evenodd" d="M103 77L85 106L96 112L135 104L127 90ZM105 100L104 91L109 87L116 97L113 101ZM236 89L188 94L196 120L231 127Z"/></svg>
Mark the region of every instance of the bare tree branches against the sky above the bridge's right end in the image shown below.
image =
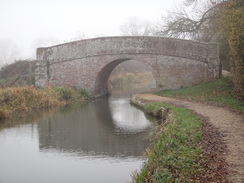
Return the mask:
<svg viewBox="0 0 244 183"><path fill-rule="evenodd" d="M185 0L184 6L169 12L156 28L157 35L211 41L216 33L220 0Z"/></svg>

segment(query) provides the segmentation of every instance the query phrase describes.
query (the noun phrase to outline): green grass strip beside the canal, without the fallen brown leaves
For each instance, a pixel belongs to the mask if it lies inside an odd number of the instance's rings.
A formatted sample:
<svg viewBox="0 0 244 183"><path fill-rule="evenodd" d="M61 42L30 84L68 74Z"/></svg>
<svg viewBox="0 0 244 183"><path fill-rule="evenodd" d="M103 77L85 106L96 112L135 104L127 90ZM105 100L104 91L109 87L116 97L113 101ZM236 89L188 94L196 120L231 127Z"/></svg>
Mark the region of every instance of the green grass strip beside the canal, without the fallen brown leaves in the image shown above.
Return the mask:
<svg viewBox="0 0 244 183"><path fill-rule="evenodd" d="M145 112L158 114L168 108L167 124L158 127L152 146L146 150L148 161L133 182L197 182L201 161L201 120L188 109L168 104L138 104Z"/></svg>

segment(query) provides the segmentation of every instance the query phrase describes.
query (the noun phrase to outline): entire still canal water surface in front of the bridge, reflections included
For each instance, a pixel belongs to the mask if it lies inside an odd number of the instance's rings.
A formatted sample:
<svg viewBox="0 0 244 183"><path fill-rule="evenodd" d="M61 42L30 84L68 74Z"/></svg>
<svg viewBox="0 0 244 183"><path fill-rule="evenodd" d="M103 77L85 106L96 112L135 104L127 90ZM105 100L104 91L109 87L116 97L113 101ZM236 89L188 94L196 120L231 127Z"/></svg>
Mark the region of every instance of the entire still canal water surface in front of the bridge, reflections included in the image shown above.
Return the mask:
<svg viewBox="0 0 244 183"><path fill-rule="evenodd" d="M152 127L116 94L25 120L0 128L0 183L130 182Z"/></svg>

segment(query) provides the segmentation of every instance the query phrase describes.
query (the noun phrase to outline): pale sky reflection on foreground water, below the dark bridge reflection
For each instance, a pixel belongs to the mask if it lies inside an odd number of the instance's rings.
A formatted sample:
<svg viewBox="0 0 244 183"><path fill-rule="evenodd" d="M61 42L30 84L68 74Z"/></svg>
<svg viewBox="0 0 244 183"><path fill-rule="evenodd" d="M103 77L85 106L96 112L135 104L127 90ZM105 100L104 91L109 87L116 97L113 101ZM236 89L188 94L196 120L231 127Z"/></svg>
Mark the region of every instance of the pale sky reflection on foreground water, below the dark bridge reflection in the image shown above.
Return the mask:
<svg viewBox="0 0 244 183"><path fill-rule="evenodd" d="M39 149L37 125L28 124L0 133L1 183L128 182L141 158L82 156L56 149Z"/></svg>

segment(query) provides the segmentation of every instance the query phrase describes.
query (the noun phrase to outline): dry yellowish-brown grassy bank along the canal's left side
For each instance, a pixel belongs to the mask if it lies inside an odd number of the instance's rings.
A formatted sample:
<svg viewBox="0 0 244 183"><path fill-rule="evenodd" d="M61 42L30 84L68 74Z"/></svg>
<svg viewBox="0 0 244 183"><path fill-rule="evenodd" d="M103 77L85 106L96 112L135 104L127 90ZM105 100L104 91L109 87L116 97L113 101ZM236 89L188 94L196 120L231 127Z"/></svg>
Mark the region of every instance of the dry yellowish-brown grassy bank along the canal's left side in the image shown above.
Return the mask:
<svg viewBox="0 0 244 183"><path fill-rule="evenodd" d="M19 113L53 106L84 103L89 95L84 90L54 87L37 89L34 87L10 87L0 89L0 119Z"/></svg>

